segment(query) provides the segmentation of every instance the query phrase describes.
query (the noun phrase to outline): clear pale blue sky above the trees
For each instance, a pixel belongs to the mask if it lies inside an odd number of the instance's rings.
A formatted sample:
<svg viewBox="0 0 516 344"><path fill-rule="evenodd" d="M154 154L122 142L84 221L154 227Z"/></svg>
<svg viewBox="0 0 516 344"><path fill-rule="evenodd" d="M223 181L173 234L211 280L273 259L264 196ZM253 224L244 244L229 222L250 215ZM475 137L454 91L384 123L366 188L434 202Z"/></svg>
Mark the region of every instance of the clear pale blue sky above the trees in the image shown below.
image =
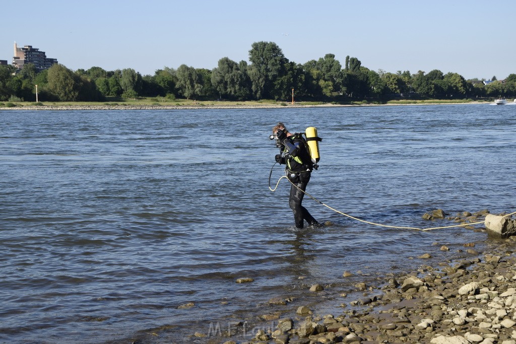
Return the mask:
<svg viewBox="0 0 516 344"><path fill-rule="evenodd" d="M469 78L516 73L509 0L4 1L0 59L32 45L77 70L133 68L142 75L187 64L248 61L253 42L275 42L290 61L334 54L396 73L439 69Z"/></svg>

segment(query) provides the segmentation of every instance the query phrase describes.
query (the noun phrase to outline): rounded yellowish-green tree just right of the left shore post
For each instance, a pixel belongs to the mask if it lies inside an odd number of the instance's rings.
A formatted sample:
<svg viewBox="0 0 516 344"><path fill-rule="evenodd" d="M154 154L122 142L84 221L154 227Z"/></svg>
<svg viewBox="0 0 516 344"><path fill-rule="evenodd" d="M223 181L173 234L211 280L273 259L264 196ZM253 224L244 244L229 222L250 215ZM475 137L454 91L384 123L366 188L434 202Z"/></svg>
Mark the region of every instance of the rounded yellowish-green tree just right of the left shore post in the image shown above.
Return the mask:
<svg viewBox="0 0 516 344"><path fill-rule="evenodd" d="M77 83L74 76L75 74L62 64L53 64L47 75L47 89L60 101L76 101L82 85Z"/></svg>

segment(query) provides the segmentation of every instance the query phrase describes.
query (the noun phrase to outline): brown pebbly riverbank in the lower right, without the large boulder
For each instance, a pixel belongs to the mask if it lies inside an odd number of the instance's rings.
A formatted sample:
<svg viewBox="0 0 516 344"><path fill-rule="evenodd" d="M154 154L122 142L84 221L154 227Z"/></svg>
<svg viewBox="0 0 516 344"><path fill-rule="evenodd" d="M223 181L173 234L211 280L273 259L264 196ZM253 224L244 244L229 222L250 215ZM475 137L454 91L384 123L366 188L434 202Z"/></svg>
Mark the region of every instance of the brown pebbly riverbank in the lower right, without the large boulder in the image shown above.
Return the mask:
<svg viewBox="0 0 516 344"><path fill-rule="evenodd" d="M516 236L495 242L481 253L473 243L464 243L460 251L466 259L423 263L417 271L398 276L385 274L379 286L357 283L353 296L335 297L347 300L340 314L316 314L310 305L292 307L290 298L273 298L268 301L270 312L259 316L273 326L255 326L262 330L250 333L246 323L239 322L230 331L196 332L189 341L516 344ZM441 250L449 249L442 245ZM418 258L424 262L429 256ZM351 275L345 271L343 277ZM320 293L322 299L332 291L331 286L316 284L310 292Z"/></svg>

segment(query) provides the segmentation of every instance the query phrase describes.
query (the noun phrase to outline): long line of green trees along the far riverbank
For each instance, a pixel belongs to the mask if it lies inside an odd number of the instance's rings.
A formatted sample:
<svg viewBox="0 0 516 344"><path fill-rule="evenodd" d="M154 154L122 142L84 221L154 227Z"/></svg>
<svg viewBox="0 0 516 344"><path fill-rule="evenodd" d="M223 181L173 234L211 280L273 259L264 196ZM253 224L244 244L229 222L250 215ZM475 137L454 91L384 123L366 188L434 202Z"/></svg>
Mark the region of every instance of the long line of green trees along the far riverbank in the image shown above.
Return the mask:
<svg viewBox="0 0 516 344"><path fill-rule="evenodd" d="M111 97L176 97L196 100L349 102L372 99L387 101L397 97L415 99L467 99L516 96L516 74L485 85L483 80L465 80L457 73L440 70L428 73L372 71L356 57L346 57L344 67L335 55L326 54L304 64L289 61L273 42L255 42L249 61L235 62L228 57L213 70L180 65L165 67L154 75L141 75L134 69L106 71L100 67L72 71L62 64L37 72L33 64L21 71L11 65L0 66L0 101L105 101Z"/></svg>

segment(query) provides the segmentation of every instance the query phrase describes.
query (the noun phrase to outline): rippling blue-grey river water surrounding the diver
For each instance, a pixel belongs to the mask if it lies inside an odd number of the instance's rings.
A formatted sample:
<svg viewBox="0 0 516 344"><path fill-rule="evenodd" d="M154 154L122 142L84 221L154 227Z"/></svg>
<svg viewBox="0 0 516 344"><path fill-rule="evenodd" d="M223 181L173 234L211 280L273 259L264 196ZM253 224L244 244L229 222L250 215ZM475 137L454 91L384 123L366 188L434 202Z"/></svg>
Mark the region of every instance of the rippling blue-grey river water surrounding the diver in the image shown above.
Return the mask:
<svg viewBox="0 0 516 344"><path fill-rule="evenodd" d="M423 253L452 259L468 242L481 252L485 232L378 227L309 198L312 215L333 224L296 230L288 182L268 189L277 154L268 135L278 121L292 132L316 126L310 194L361 219L424 228L454 224L422 219L436 208L516 210L515 113L485 104L0 111L0 341L202 342L187 336L251 321L273 297L296 298L282 309L335 311L343 301L317 299L307 291L315 283L338 294L412 271ZM282 175L276 165L271 185Z"/></svg>

